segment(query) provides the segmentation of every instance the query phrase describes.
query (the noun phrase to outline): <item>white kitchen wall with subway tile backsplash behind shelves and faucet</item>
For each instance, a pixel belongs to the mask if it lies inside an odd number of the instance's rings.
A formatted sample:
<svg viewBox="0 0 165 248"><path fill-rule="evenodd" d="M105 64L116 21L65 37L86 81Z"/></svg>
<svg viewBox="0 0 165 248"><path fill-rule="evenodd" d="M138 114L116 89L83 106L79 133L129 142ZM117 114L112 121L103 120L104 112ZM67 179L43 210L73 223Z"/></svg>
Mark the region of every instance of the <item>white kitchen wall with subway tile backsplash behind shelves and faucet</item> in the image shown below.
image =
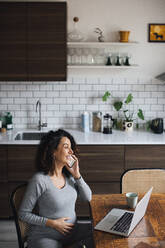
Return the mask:
<svg viewBox="0 0 165 248"><path fill-rule="evenodd" d="M42 119L49 128L77 128L84 110L117 113L113 99L101 97L110 90L114 97L132 93L130 108L142 108L145 119L165 118L165 85L155 76L165 70L165 43L148 43L148 23L165 23L164 0L68 0L68 31L74 16L87 40L97 40L96 27L104 31L106 41L116 41L118 30L131 31L130 40L139 44L129 52L140 65L137 69L68 70L67 82L0 82L0 111L10 111L16 128L36 127L35 104L42 102Z"/></svg>

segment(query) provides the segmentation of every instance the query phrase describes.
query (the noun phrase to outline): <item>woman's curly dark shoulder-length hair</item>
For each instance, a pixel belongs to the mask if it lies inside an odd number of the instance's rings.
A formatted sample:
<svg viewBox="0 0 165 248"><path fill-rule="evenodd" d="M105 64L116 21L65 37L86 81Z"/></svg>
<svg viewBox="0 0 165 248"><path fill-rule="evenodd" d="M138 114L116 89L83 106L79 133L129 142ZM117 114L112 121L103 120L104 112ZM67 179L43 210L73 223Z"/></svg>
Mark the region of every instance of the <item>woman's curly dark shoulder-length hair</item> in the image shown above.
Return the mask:
<svg viewBox="0 0 165 248"><path fill-rule="evenodd" d="M36 154L36 169L38 172L43 172L45 175L54 172L54 151L57 149L61 139L67 137L70 140L73 153L78 156L78 149L73 136L63 129L57 131L49 131L41 138ZM69 176L69 171L64 167L63 173Z"/></svg>

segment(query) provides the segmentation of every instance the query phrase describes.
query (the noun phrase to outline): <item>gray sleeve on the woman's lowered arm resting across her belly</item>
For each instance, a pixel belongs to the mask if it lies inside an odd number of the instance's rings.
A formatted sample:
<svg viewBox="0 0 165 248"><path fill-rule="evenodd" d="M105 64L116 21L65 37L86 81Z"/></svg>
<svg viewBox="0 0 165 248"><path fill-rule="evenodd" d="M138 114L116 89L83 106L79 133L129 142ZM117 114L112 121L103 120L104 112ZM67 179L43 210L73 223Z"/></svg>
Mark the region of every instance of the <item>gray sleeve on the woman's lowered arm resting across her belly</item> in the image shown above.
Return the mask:
<svg viewBox="0 0 165 248"><path fill-rule="evenodd" d="M19 218L29 224L45 226L47 218L32 213L39 197L44 193L45 185L42 175L35 175L27 186L26 193L19 209Z"/></svg>

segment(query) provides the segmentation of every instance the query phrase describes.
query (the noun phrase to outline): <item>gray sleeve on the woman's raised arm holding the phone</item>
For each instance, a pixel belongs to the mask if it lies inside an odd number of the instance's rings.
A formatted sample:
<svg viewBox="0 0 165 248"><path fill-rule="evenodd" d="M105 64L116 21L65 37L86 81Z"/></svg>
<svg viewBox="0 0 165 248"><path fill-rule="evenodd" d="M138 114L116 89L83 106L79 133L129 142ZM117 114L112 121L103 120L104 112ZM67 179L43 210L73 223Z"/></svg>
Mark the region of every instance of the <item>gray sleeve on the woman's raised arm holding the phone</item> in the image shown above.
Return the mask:
<svg viewBox="0 0 165 248"><path fill-rule="evenodd" d="M75 179L75 185L80 199L83 201L91 201L92 191L82 177L80 179Z"/></svg>

